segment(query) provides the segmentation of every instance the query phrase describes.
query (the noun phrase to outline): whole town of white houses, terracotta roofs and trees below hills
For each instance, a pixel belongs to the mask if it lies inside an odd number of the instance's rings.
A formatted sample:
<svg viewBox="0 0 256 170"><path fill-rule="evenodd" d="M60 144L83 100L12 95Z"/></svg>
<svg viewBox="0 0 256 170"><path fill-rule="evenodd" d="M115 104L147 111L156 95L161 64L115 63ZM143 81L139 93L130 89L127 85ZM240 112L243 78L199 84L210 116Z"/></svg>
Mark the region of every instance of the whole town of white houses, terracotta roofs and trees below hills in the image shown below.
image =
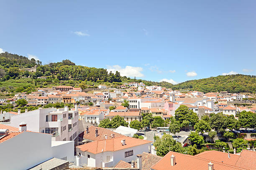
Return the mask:
<svg viewBox="0 0 256 170"><path fill-rule="evenodd" d="M1 168L254 170L254 97L142 82L19 92L1 98Z"/></svg>

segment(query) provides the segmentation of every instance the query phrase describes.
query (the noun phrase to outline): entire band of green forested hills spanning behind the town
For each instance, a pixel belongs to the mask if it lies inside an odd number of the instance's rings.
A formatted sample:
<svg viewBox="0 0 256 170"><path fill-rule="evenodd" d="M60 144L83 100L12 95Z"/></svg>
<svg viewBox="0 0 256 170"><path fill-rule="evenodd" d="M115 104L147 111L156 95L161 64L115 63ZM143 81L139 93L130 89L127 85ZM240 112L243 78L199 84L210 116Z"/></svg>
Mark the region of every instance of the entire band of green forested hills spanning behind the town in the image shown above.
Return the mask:
<svg viewBox="0 0 256 170"><path fill-rule="evenodd" d="M19 70L37 66L36 72ZM47 79L37 77L46 76ZM256 76L250 75L220 75L199 80L190 80L172 85L169 82L153 82L141 79L131 79L120 76L120 72L107 72L104 68L85 67L75 65L70 60L53 62L42 65L35 59L11 54L0 54L0 87L19 87L17 92L26 90L28 87L51 87L55 85L72 85L83 88L92 85L105 84L117 87L124 82L143 82L145 85L159 85L174 90L197 90L202 92L228 91L232 93L256 92ZM6 87L9 88L9 87Z"/></svg>

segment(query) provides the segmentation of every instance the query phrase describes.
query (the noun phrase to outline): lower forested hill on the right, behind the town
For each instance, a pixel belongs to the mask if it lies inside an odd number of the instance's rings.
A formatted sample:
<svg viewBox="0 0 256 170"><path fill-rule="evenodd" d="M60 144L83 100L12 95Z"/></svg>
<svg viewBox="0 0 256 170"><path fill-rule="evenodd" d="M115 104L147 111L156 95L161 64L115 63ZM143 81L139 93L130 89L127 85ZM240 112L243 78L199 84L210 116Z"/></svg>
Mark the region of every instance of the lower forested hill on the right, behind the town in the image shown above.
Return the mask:
<svg viewBox="0 0 256 170"><path fill-rule="evenodd" d="M199 80L189 80L172 86L175 90L197 90L201 92L230 93L256 92L255 75L219 75Z"/></svg>

